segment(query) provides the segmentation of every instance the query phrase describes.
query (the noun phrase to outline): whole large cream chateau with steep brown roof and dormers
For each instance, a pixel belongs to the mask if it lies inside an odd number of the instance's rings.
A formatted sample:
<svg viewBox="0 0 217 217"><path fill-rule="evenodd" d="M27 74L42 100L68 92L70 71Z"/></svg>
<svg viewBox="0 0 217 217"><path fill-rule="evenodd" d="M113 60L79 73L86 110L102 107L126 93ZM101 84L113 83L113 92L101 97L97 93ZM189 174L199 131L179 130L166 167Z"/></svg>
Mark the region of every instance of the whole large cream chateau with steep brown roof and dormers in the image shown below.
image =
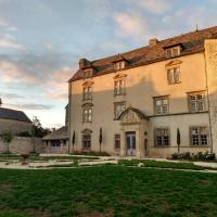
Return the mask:
<svg viewBox="0 0 217 217"><path fill-rule="evenodd" d="M217 152L217 27L81 59L68 82L71 152L166 157L177 131L180 152Z"/></svg>

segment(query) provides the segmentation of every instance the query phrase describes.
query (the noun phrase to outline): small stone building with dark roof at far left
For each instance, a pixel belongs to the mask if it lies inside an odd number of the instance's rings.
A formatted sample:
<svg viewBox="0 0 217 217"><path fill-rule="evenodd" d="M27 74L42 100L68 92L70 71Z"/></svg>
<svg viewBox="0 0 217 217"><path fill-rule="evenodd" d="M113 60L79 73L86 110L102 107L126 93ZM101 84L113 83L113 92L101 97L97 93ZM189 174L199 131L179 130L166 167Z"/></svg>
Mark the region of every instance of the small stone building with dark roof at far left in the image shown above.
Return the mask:
<svg viewBox="0 0 217 217"><path fill-rule="evenodd" d="M22 111L0 106L0 135L11 131L13 135L31 132L33 123Z"/></svg>

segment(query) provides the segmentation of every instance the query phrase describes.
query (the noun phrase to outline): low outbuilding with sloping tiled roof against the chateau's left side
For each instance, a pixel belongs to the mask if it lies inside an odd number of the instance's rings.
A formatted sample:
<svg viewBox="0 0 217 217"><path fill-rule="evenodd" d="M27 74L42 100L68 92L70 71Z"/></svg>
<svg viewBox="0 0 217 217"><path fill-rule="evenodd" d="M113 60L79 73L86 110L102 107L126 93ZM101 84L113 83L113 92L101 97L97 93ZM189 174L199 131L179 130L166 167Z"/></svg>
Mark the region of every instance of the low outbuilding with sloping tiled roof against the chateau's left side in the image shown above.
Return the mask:
<svg viewBox="0 0 217 217"><path fill-rule="evenodd" d="M54 154L68 153L68 127L64 126L43 137L43 152Z"/></svg>

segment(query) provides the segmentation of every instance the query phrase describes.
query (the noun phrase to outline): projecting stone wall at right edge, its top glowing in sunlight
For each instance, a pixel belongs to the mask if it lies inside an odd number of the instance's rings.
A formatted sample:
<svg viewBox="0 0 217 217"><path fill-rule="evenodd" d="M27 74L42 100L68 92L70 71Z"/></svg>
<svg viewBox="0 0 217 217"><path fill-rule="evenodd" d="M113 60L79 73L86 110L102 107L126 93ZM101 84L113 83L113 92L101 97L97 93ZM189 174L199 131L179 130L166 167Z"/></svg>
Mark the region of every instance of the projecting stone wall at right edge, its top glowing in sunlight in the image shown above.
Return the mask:
<svg viewBox="0 0 217 217"><path fill-rule="evenodd" d="M213 151L217 153L217 40L205 41L205 60L208 85Z"/></svg>

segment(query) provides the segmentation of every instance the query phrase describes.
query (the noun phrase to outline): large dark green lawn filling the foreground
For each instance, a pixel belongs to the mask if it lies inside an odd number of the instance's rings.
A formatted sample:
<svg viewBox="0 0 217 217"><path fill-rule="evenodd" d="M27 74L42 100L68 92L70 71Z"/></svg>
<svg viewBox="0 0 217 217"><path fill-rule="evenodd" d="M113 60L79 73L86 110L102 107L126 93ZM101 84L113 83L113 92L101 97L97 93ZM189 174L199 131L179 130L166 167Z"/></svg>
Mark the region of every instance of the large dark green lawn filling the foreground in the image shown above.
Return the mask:
<svg viewBox="0 0 217 217"><path fill-rule="evenodd" d="M217 216L217 175L125 166L0 169L0 217Z"/></svg>

